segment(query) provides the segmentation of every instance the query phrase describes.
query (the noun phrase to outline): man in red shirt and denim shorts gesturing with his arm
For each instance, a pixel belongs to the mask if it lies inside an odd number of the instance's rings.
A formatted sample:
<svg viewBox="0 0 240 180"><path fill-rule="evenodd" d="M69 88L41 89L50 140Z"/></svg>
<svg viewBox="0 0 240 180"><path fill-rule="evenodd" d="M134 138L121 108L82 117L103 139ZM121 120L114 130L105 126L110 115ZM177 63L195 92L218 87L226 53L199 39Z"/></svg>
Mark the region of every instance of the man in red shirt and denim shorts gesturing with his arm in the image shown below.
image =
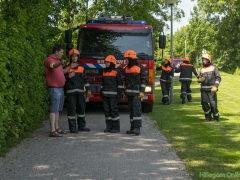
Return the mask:
<svg viewBox="0 0 240 180"><path fill-rule="evenodd" d="M52 54L47 57L44 62L44 70L46 77L46 85L50 97L50 134L49 137L62 137L61 134L66 134L65 131L59 129L59 111L63 109L64 103L64 91L63 86L65 84L64 73L70 68L74 68L77 65L71 64L66 69L62 68L62 65L66 60L60 60L63 56L64 50L60 45L55 45L52 50Z"/></svg>

